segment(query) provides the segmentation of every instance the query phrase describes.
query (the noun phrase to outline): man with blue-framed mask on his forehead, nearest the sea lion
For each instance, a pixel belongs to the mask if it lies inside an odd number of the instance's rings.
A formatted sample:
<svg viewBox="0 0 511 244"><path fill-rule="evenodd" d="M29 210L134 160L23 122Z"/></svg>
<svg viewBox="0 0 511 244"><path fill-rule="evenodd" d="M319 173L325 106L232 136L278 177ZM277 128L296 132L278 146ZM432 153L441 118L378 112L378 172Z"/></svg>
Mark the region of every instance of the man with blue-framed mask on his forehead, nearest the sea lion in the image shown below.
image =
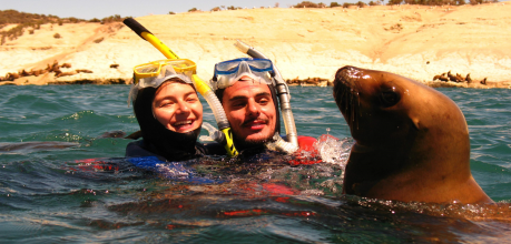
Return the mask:
<svg viewBox="0 0 511 244"><path fill-rule="evenodd" d="M234 144L240 152L264 150L281 133L281 114L274 67L268 59L242 58L215 65L210 81L222 102L233 131ZM301 149L309 148L316 140L299 136Z"/></svg>

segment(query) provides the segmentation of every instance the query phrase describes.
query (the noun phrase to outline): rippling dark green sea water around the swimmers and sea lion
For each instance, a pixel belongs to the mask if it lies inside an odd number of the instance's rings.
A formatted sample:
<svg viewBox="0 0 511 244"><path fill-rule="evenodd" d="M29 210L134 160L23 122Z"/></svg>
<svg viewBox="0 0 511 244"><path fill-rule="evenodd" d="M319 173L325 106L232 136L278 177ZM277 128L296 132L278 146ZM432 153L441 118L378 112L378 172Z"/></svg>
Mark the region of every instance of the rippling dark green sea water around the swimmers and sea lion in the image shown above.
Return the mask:
<svg viewBox="0 0 511 244"><path fill-rule="evenodd" d="M439 89L466 118L472 174L499 203L492 207L342 195L340 165L289 166L282 157L255 163L208 157L178 165L213 182L146 172L124 159L130 140L104 135L138 130L128 91L126 85L0 87L0 242L479 243L511 237L511 90ZM298 133L328 133L347 153L350 130L332 89L292 87L291 92ZM206 104L205 113L215 124Z"/></svg>

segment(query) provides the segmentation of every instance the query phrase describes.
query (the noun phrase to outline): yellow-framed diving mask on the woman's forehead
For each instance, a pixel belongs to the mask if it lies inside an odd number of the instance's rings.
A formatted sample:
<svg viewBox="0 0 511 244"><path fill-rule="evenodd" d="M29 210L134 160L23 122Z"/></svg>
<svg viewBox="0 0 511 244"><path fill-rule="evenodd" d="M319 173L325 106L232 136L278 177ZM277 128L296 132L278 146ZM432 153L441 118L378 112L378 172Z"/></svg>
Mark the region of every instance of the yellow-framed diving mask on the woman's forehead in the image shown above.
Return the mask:
<svg viewBox="0 0 511 244"><path fill-rule="evenodd" d="M194 85L191 75L196 73L197 65L187 59L167 59L144 63L134 68L134 84L129 92L129 101L137 99L137 93L144 88L158 88L165 81L179 78Z"/></svg>

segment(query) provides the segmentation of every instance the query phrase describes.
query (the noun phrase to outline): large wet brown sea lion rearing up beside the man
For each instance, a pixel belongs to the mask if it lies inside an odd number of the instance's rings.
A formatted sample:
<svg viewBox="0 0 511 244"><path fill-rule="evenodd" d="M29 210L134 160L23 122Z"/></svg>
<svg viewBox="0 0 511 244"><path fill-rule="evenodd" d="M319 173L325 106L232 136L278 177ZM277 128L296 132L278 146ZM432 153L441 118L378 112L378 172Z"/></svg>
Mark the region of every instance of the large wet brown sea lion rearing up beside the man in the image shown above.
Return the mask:
<svg viewBox="0 0 511 244"><path fill-rule="evenodd" d="M465 118L446 95L397 74L344 67L333 94L355 140L343 192L403 202L489 203L470 172Z"/></svg>

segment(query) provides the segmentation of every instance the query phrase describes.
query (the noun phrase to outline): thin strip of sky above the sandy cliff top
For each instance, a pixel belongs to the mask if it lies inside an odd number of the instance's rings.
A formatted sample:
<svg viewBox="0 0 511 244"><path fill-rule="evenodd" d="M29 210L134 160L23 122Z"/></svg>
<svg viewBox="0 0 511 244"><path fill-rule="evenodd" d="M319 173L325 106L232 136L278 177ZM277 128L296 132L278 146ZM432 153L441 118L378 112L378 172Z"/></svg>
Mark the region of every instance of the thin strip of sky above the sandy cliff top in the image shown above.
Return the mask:
<svg viewBox="0 0 511 244"><path fill-rule="evenodd" d="M105 17L120 14L121 17L143 17L149 14L167 14L173 12L187 12L191 8L210 10L219 6L234 7L274 7L276 2L279 8L302 2L303 0L0 0L0 10L13 9L21 12L53 14L61 18L76 17L79 19L102 19ZM331 2L342 4L345 1L312 1ZM352 0L347 2L357 2ZM368 2L364 1L364 2Z"/></svg>

